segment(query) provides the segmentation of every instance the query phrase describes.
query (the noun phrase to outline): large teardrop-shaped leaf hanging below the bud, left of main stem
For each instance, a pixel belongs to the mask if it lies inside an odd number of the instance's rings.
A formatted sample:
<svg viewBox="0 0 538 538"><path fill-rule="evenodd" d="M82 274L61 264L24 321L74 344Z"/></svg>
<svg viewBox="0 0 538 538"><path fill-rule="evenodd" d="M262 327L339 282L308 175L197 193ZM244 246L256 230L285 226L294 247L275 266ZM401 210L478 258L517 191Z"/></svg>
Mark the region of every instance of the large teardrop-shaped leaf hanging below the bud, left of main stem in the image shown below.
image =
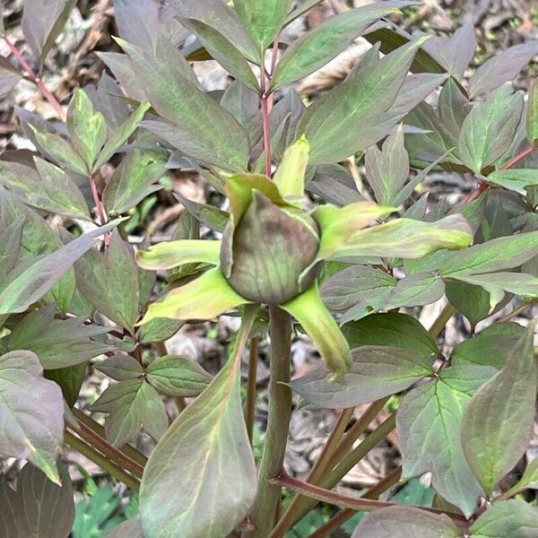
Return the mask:
<svg viewBox="0 0 538 538"><path fill-rule="evenodd" d="M256 308L247 308L230 359L172 422L145 465L140 514L146 538L224 538L254 501L256 465L243 420L239 367L255 314Z"/></svg>

